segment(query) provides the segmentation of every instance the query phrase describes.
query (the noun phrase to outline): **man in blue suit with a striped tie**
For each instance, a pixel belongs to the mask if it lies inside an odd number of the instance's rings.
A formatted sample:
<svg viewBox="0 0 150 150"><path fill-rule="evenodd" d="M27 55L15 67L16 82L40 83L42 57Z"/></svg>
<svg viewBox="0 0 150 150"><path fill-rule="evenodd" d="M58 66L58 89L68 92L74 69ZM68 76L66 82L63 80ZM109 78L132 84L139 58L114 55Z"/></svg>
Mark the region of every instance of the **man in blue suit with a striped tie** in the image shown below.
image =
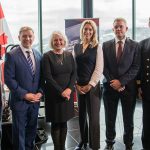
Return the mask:
<svg viewBox="0 0 150 150"><path fill-rule="evenodd" d="M10 90L14 150L33 150L36 136L40 90L41 55L32 49L33 29L20 29L20 46L6 54L5 83Z"/></svg>

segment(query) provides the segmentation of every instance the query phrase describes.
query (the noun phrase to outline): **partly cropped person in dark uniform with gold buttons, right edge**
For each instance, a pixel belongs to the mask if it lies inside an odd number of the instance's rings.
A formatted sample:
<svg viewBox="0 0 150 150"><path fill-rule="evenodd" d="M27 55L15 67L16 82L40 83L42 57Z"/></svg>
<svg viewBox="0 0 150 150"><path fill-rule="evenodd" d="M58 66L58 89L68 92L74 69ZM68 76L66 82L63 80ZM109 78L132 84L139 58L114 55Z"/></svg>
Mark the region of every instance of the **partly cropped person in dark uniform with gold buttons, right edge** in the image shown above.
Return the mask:
<svg viewBox="0 0 150 150"><path fill-rule="evenodd" d="M149 18L150 27L150 18ZM141 90L143 106L142 145L150 150L150 38L140 42L141 47Z"/></svg>

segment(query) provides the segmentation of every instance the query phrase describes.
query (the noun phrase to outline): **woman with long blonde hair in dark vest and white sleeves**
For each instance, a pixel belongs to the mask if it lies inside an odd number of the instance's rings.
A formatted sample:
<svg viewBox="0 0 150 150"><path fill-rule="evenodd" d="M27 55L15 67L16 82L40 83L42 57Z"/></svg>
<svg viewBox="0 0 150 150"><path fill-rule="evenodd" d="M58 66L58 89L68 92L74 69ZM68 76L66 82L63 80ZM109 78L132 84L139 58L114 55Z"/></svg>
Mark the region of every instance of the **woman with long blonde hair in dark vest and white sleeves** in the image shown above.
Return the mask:
<svg viewBox="0 0 150 150"><path fill-rule="evenodd" d="M103 72L103 52L98 43L97 26L94 21L85 20L82 23L80 39L81 43L76 44L73 51L77 64L76 88L81 135L81 141L75 149L86 148L89 142L90 148L98 150L100 148L100 78Z"/></svg>

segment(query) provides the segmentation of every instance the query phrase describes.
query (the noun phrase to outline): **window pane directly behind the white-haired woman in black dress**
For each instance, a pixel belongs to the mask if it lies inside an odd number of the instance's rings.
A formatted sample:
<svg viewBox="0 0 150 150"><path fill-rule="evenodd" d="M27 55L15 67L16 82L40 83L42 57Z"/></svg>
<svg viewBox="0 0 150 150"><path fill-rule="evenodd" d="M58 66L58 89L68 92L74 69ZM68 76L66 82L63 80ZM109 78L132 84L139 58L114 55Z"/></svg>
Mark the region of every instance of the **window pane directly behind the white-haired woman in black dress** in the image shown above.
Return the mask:
<svg viewBox="0 0 150 150"><path fill-rule="evenodd" d="M49 36L55 31L64 32L65 19L81 18L81 0L43 1L43 51L49 50Z"/></svg>

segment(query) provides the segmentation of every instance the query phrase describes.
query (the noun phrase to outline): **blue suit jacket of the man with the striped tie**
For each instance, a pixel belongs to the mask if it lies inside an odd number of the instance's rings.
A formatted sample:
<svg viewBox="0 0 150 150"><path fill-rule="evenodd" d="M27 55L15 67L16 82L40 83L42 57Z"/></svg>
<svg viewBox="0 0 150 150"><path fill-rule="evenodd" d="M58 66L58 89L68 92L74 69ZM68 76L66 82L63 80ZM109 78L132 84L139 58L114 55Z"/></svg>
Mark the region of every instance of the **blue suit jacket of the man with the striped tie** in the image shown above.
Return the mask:
<svg viewBox="0 0 150 150"><path fill-rule="evenodd" d="M33 49L33 54L36 66L34 76L20 46L6 54L4 77L5 83L11 91L11 106L14 106L18 101L23 101L26 93L37 93L40 90L41 55L35 49Z"/></svg>

